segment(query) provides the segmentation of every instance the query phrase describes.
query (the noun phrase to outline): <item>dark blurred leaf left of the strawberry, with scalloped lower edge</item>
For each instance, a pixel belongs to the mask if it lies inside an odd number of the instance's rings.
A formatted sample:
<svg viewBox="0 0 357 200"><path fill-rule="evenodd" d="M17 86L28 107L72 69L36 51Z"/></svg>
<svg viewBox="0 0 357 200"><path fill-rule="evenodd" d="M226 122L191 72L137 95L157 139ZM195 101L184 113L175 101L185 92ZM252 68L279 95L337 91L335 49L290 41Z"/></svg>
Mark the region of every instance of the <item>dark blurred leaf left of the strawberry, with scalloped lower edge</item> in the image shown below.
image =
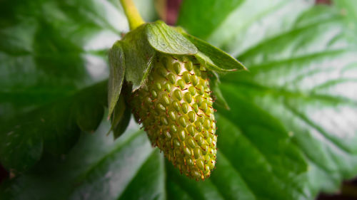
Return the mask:
<svg viewBox="0 0 357 200"><path fill-rule="evenodd" d="M152 2L138 2L152 19ZM107 50L125 31L119 1L1 1L0 161L6 169L26 171L42 152L64 153L81 130L96 130L106 105Z"/></svg>

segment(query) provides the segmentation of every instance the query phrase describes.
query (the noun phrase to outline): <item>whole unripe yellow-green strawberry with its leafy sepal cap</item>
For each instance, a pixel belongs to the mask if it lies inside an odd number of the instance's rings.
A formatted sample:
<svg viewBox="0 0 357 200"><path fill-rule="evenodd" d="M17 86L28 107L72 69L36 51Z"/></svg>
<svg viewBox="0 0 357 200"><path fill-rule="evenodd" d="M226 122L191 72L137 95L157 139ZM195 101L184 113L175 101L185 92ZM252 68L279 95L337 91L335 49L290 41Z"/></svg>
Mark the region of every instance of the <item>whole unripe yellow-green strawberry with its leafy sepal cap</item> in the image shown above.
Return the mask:
<svg viewBox="0 0 357 200"><path fill-rule="evenodd" d="M125 6L131 1L123 2ZM211 176L217 153L211 91L216 105L228 108L217 73L246 68L182 28L164 21L144 23L139 14L131 14L133 4L126 6L131 31L109 51L108 105L114 137L124 132L127 111L132 110L151 144L181 174L204 180Z"/></svg>

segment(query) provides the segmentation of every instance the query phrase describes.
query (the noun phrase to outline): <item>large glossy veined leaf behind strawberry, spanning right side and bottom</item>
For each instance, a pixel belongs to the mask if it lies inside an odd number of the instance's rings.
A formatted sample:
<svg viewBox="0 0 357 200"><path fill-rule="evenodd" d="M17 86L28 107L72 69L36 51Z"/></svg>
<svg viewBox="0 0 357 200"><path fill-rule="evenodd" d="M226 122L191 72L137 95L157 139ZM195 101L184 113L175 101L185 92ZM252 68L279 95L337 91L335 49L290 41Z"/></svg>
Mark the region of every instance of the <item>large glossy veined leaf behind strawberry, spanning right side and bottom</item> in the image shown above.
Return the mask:
<svg viewBox="0 0 357 200"><path fill-rule="evenodd" d="M313 199L356 176L357 41L343 13L312 1L214 2L184 1L180 25L250 71L221 77L231 110L216 114L209 179L179 174L133 121L116 142L103 122L65 156L6 181L0 199Z"/></svg>

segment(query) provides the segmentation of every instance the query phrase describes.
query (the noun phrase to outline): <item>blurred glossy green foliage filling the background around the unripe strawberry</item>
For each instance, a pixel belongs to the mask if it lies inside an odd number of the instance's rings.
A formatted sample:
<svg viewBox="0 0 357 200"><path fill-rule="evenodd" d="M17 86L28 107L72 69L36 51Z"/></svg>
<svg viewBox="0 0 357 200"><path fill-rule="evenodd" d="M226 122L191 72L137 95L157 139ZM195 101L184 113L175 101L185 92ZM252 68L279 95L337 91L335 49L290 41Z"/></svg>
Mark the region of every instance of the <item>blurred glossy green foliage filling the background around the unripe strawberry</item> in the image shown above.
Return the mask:
<svg viewBox="0 0 357 200"><path fill-rule="evenodd" d="M172 20L164 1L135 2ZM218 162L197 182L134 120L106 136L107 51L129 31L119 1L1 1L0 199L357 198L340 190L357 175L357 6L315 3L182 2L177 25L249 69L221 76L231 110L218 107Z"/></svg>

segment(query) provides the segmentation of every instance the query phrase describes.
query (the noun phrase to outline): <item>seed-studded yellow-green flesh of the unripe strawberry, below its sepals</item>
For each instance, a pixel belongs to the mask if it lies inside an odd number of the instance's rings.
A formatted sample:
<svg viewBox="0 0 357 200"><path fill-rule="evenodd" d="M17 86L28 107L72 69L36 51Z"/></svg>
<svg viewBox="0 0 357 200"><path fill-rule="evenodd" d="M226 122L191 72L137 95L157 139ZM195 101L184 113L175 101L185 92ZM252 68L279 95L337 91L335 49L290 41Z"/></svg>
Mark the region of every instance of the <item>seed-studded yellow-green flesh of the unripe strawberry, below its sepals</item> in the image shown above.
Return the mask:
<svg viewBox="0 0 357 200"><path fill-rule="evenodd" d="M146 85L131 97L133 113L181 173L206 179L216 164L216 122L204 66L191 56L158 56Z"/></svg>

